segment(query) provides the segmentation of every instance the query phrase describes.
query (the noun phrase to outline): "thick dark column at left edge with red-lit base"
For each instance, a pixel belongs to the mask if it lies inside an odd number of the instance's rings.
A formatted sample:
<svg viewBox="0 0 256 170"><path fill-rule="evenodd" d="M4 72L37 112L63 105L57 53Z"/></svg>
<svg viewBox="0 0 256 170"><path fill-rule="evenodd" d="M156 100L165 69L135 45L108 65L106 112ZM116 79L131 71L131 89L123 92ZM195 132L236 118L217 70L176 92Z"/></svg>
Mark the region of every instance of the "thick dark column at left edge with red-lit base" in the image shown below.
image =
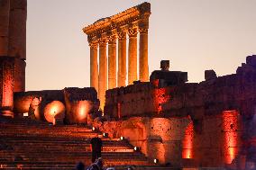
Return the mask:
<svg viewBox="0 0 256 170"><path fill-rule="evenodd" d="M14 116L14 92L25 90L26 0L0 2L0 112Z"/></svg>

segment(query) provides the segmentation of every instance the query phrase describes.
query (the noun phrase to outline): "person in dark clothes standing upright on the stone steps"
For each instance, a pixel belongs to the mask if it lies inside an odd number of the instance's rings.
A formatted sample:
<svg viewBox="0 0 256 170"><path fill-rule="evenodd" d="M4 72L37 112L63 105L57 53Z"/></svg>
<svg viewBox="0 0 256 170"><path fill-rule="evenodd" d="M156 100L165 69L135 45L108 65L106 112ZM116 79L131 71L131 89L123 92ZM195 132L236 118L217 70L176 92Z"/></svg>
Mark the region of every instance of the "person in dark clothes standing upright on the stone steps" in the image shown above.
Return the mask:
<svg viewBox="0 0 256 170"><path fill-rule="evenodd" d="M102 149L102 140L100 138L94 137L91 139L90 148L92 151L92 163L96 161L97 158L101 157L101 149Z"/></svg>

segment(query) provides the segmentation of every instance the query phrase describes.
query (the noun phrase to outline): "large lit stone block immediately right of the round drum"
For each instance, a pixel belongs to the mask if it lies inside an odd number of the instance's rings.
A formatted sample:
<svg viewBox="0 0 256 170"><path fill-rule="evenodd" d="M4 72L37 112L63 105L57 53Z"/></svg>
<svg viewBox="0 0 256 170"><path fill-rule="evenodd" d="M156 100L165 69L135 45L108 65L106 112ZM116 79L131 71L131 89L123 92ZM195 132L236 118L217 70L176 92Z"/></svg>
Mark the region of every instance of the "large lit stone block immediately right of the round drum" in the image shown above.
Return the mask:
<svg viewBox="0 0 256 170"><path fill-rule="evenodd" d="M65 88L64 97L67 123L88 123L88 115L98 111L99 101L93 87Z"/></svg>

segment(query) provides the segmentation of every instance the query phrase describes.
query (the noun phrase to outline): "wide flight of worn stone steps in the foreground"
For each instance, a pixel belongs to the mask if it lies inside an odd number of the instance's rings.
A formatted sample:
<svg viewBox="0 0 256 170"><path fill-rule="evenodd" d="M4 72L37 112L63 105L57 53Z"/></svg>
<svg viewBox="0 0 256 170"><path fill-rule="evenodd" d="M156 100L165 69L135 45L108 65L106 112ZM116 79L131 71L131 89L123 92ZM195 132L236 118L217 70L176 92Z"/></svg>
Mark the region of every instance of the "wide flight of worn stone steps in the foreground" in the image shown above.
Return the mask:
<svg viewBox="0 0 256 170"><path fill-rule="evenodd" d="M89 142L96 131L82 125L0 117L0 169L74 169L91 163ZM150 166L126 140L102 137L105 166ZM157 169L157 168L153 168Z"/></svg>

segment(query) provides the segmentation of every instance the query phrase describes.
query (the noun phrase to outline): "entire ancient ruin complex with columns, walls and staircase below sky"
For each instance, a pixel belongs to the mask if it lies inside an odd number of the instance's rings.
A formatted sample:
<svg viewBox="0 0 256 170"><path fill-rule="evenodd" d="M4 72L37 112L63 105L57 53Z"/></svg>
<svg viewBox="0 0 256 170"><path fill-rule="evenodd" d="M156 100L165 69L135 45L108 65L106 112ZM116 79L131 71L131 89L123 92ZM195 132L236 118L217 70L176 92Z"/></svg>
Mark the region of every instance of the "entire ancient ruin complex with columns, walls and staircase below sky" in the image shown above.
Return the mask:
<svg viewBox="0 0 256 170"><path fill-rule="evenodd" d="M105 165L120 169L255 169L256 56L233 75L206 70L200 83L162 60L149 80L150 15L143 3L83 29L91 87L24 92L26 0L0 1L0 168L89 165L97 134Z"/></svg>

